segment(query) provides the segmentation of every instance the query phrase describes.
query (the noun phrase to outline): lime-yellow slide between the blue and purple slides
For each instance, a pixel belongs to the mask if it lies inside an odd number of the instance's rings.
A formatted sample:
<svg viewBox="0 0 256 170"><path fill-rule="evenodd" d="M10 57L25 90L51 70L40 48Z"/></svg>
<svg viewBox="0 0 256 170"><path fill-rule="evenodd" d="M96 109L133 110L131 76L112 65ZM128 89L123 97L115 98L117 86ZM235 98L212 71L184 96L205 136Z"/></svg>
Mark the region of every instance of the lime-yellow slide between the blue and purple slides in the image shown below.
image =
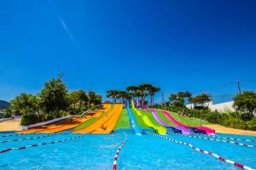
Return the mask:
<svg viewBox="0 0 256 170"><path fill-rule="evenodd" d="M148 118L147 115L143 115L141 111L138 111L135 107L134 107L134 103L133 101L131 101L131 108L134 109L134 111L136 111L137 115L138 116L141 116L143 118L143 122L148 125L148 127L152 127L154 128L154 130L157 132L157 133L160 133L160 134L166 134L167 133L167 129L165 127L160 127L160 126L157 126L155 125L153 122L151 122Z"/></svg>

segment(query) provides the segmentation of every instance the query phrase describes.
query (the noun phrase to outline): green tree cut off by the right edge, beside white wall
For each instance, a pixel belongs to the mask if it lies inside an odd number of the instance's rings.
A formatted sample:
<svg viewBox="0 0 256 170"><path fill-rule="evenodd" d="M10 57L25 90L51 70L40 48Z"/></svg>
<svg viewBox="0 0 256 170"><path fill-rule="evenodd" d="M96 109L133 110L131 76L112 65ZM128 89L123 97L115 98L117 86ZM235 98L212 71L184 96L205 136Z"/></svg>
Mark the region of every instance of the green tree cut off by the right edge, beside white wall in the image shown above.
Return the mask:
<svg viewBox="0 0 256 170"><path fill-rule="evenodd" d="M248 113L248 120L253 118L253 111L256 109L256 93L253 91L244 91L234 97L234 107L237 111Z"/></svg>

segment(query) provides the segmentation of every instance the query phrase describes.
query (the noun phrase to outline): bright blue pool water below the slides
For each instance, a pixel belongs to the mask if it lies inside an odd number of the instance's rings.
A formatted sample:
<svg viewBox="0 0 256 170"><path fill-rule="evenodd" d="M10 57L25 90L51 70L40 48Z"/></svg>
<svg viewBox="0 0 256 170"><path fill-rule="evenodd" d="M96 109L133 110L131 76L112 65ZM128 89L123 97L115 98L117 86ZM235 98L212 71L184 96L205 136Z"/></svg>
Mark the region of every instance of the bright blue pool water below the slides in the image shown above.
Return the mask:
<svg viewBox="0 0 256 170"><path fill-rule="evenodd" d="M229 163L201 154L189 146L176 144L152 134L137 136L127 133L125 147L119 153L118 169L239 169ZM0 136L13 133L0 133ZM22 134L14 137L1 138L20 139L43 136L44 134ZM22 140L0 144L0 150L39 144L59 139L69 139L81 134L60 133L44 139ZM239 139L255 139L256 137L224 135ZM191 139L185 136L166 135L169 138L189 142L196 147L208 150L232 161L256 168L256 148L247 148L235 144ZM113 156L124 140L122 132L111 134L88 134L80 139L69 140L59 144L49 144L26 150L10 150L0 154L0 169L112 169ZM244 144L255 142L239 141Z"/></svg>

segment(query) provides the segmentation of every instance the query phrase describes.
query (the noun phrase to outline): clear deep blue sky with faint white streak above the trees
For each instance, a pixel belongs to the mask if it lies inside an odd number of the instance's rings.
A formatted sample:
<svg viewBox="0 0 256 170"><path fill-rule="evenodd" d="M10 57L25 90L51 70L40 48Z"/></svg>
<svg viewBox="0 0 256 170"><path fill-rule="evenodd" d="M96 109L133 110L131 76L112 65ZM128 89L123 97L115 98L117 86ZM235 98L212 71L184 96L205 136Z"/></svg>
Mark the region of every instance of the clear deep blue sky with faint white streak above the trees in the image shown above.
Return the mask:
<svg viewBox="0 0 256 170"><path fill-rule="evenodd" d="M212 96L256 89L256 1L0 1L0 99L64 73L73 89L151 82ZM156 96L160 101L160 94Z"/></svg>

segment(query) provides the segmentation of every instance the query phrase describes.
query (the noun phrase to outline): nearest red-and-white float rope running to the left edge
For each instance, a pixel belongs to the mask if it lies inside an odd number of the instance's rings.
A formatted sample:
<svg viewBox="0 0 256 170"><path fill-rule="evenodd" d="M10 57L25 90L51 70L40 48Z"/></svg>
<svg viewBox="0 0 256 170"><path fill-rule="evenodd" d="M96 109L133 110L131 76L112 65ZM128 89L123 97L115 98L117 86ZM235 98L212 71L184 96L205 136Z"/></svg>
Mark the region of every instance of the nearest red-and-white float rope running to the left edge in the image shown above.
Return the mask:
<svg viewBox="0 0 256 170"><path fill-rule="evenodd" d="M37 147L37 146L46 145L46 144L56 144L56 143L61 143L61 142L68 141L68 140L79 139L79 138L82 138L82 137L84 137L84 135L75 136L75 137L70 138L70 139L61 139L61 140L55 140L55 141L51 141L51 142L44 142L44 143L41 143L41 144L31 144L31 145L27 145L27 146L21 146L19 148L8 148L8 149L5 149L5 150L0 150L0 154L6 153L10 150L24 150L26 148Z"/></svg>

